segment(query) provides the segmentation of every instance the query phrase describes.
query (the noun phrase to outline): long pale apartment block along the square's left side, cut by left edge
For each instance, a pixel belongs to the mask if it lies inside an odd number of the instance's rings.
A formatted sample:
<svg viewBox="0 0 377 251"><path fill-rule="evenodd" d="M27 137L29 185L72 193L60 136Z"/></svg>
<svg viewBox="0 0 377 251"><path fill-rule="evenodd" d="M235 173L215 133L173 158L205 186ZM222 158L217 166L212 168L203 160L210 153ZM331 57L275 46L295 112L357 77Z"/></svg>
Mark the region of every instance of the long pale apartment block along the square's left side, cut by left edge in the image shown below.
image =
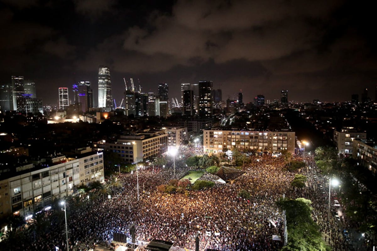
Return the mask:
<svg viewBox="0 0 377 251"><path fill-rule="evenodd" d="M79 184L104 182L103 153L54 154L33 159L0 176L0 219L10 214L27 216L77 192Z"/></svg>

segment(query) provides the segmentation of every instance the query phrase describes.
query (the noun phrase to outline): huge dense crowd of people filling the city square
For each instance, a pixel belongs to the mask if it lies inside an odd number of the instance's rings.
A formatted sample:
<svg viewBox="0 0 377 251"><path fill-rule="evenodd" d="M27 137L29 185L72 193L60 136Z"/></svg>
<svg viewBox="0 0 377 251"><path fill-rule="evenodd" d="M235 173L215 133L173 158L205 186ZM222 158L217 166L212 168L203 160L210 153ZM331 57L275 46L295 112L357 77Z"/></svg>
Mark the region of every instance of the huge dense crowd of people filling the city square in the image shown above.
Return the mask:
<svg viewBox="0 0 377 251"><path fill-rule="evenodd" d="M346 250L334 222L330 227L328 225L326 195L317 188L318 180L313 178L320 177L320 173L315 168L302 169L302 174L309 178L308 186L294 189L290 186L294 173L286 171L285 164L283 158L253 156L242 168L246 173L233 185L216 183L210 189L188 194L168 194L156 189L173 178L170 168L139 170L139 201L135 171L122 173L118 181L123 188L111 199L88 200L83 196L81 202L85 200L84 203L67 204L70 250L85 250L100 242L109 245L114 233L125 233L130 238L132 224L136 227L136 239L145 242L160 239L171 241L174 246L195 249L195 237L199 234L201 250L279 250L282 242L272 237L283 237L282 212L275 205L283 194L288 198L311 199L313 217L320 230L330 236L329 243L334 250ZM176 177L183 176L189 169L178 166ZM203 179L211 177L215 176L205 175ZM250 192L249 199L238 197L241 189ZM46 217L61 215L50 212ZM22 250L55 250L55 246L66 249L61 222L58 219L51 221L53 231ZM333 230L331 235L330 229Z"/></svg>

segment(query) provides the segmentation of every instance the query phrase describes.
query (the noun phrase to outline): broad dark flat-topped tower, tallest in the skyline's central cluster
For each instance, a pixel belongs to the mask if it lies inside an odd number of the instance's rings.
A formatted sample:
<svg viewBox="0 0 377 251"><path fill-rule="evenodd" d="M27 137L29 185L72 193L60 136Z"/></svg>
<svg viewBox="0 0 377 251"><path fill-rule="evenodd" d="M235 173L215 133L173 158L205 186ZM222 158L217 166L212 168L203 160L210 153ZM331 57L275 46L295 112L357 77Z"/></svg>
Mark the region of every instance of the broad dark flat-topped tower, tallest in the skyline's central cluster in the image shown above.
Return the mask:
<svg viewBox="0 0 377 251"><path fill-rule="evenodd" d="M199 116L211 117L213 114L212 81L199 81Z"/></svg>

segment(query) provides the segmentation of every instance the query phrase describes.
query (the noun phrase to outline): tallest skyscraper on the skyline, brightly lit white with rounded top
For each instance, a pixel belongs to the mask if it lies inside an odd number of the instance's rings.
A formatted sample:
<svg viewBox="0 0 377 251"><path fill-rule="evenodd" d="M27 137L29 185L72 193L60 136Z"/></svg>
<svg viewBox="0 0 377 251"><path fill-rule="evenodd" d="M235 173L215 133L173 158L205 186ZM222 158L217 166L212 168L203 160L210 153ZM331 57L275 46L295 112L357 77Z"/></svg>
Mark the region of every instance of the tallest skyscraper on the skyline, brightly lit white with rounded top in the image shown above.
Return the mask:
<svg viewBox="0 0 377 251"><path fill-rule="evenodd" d="M98 67L98 107L113 107L110 69L103 65Z"/></svg>

